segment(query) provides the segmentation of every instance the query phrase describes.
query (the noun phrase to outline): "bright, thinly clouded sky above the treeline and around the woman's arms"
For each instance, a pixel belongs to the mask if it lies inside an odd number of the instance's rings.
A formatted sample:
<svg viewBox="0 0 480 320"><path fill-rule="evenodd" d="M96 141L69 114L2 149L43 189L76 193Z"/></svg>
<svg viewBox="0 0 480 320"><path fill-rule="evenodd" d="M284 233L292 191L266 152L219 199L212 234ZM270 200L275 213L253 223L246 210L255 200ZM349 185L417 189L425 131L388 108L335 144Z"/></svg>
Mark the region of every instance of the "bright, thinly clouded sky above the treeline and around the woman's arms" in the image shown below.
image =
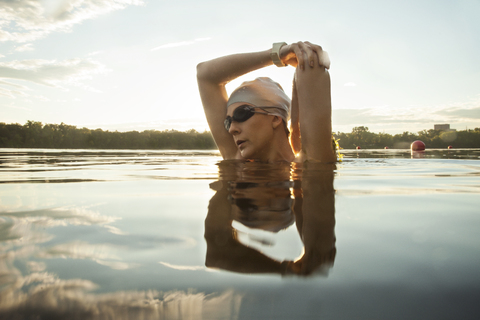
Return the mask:
<svg viewBox="0 0 480 320"><path fill-rule="evenodd" d="M0 0L0 122L208 130L196 65L308 40L333 131L480 127L478 0ZM291 96L294 69L268 76Z"/></svg>

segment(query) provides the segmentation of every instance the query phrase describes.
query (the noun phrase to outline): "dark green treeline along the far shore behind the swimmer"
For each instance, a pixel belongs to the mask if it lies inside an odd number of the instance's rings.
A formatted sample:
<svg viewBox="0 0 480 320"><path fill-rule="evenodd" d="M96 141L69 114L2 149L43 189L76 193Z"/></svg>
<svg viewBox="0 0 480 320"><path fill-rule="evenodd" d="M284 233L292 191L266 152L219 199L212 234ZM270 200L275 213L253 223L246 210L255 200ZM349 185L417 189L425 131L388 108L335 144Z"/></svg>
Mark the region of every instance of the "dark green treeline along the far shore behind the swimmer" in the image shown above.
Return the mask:
<svg viewBox="0 0 480 320"><path fill-rule="evenodd" d="M423 130L391 135L355 127L351 133L334 133L343 149L408 149L415 140L427 148L480 148L480 128L465 131ZM145 130L103 131L61 124L27 121L24 125L0 122L0 148L55 149L216 149L210 132Z"/></svg>

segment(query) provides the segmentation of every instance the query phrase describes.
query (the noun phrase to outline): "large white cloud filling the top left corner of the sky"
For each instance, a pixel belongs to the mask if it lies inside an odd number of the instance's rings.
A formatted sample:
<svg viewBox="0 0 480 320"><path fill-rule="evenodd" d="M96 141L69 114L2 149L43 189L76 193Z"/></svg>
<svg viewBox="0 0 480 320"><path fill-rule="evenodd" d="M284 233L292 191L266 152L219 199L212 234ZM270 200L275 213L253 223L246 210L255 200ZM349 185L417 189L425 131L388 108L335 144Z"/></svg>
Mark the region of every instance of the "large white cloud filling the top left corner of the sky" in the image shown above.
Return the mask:
<svg viewBox="0 0 480 320"><path fill-rule="evenodd" d="M0 41L27 42L52 32L69 32L82 21L142 0L0 0Z"/></svg>

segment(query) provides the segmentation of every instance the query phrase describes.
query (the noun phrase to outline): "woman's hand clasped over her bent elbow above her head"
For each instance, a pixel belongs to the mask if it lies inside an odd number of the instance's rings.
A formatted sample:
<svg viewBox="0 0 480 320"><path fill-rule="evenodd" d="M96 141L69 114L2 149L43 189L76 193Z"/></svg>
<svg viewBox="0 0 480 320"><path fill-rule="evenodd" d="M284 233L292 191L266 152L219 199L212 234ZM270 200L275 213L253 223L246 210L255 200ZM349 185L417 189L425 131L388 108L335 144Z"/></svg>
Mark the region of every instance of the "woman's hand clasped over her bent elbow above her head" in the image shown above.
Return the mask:
<svg viewBox="0 0 480 320"><path fill-rule="evenodd" d="M300 66L302 70L305 66L313 68L315 64L330 68L330 58L328 53L322 50L322 47L308 41L299 41L280 48L280 59L283 63L293 67Z"/></svg>

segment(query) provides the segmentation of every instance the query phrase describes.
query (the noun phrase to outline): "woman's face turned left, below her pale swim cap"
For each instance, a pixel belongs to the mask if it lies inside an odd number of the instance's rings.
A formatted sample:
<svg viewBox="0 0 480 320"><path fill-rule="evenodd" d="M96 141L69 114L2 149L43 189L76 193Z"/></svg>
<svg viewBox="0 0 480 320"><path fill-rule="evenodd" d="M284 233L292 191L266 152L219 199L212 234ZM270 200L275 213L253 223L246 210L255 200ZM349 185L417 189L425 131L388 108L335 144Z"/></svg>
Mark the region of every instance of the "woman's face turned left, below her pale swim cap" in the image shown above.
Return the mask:
<svg viewBox="0 0 480 320"><path fill-rule="evenodd" d="M227 109L227 116L232 116L236 108L245 104L251 105L244 102L230 105ZM257 110L262 111L261 109ZM232 121L228 132L233 136L233 140L244 159L262 160L269 154L272 148L273 117L273 115L255 113L244 122Z"/></svg>

